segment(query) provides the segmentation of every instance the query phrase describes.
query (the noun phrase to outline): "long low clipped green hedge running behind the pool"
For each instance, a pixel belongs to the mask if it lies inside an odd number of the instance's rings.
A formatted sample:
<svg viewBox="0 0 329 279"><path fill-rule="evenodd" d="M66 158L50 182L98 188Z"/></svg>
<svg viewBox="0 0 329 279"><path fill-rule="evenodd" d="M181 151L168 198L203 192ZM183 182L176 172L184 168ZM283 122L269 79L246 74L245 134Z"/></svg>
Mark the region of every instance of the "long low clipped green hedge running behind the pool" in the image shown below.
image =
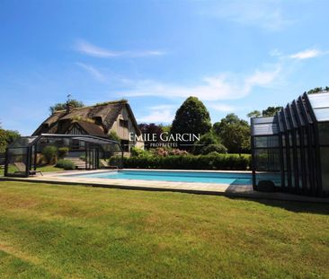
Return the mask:
<svg viewBox="0 0 329 279"><path fill-rule="evenodd" d="M168 170L249 170L249 154L209 154L182 156L140 156L123 158L123 166L128 169L168 169Z"/></svg>

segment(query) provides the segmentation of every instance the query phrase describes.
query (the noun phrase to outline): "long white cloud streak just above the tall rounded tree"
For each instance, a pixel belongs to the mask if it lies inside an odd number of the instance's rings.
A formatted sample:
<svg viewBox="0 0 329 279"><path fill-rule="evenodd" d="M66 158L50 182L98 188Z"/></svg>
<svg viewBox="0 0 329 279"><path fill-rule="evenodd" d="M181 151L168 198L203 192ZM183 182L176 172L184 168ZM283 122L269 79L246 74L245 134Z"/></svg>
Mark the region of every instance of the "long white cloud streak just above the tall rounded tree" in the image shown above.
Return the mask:
<svg viewBox="0 0 329 279"><path fill-rule="evenodd" d="M194 86L146 80L136 82L132 89L117 93L127 97L157 96L175 99L196 96L201 100L236 100L248 95L255 86L269 86L279 73L280 66L275 65L271 71L257 70L246 77L232 74L205 77L200 84Z"/></svg>

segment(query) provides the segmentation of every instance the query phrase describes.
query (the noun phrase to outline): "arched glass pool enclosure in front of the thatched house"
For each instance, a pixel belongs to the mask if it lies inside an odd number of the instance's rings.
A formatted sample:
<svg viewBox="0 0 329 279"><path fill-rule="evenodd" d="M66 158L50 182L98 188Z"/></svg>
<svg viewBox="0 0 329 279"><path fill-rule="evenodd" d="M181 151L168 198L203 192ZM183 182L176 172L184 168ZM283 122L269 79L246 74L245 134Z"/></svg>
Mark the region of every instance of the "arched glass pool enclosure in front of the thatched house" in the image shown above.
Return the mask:
<svg viewBox="0 0 329 279"><path fill-rule="evenodd" d="M122 167L121 145L93 135L41 134L22 136L10 144L5 152L4 176L28 177L37 170L40 153L46 146L67 147L70 152L84 158L85 170L100 168L100 159L115 158L116 166Z"/></svg>

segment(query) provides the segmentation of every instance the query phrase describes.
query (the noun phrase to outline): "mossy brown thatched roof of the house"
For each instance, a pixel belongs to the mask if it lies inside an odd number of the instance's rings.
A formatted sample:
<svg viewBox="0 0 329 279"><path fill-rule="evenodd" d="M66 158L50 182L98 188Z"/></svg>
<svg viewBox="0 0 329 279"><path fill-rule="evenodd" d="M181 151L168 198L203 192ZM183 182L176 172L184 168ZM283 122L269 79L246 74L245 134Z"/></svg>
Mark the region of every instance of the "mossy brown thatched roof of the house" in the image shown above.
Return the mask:
<svg viewBox="0 0 329 279"><path fill-rule="evenodd" d="M127 100L109 101L94 106L55 111L32 135L65 134L73 126L80 126L86 134L105 136L118 118L121 110L127 108L129 117L139 134L138 124Z"/></svg>

